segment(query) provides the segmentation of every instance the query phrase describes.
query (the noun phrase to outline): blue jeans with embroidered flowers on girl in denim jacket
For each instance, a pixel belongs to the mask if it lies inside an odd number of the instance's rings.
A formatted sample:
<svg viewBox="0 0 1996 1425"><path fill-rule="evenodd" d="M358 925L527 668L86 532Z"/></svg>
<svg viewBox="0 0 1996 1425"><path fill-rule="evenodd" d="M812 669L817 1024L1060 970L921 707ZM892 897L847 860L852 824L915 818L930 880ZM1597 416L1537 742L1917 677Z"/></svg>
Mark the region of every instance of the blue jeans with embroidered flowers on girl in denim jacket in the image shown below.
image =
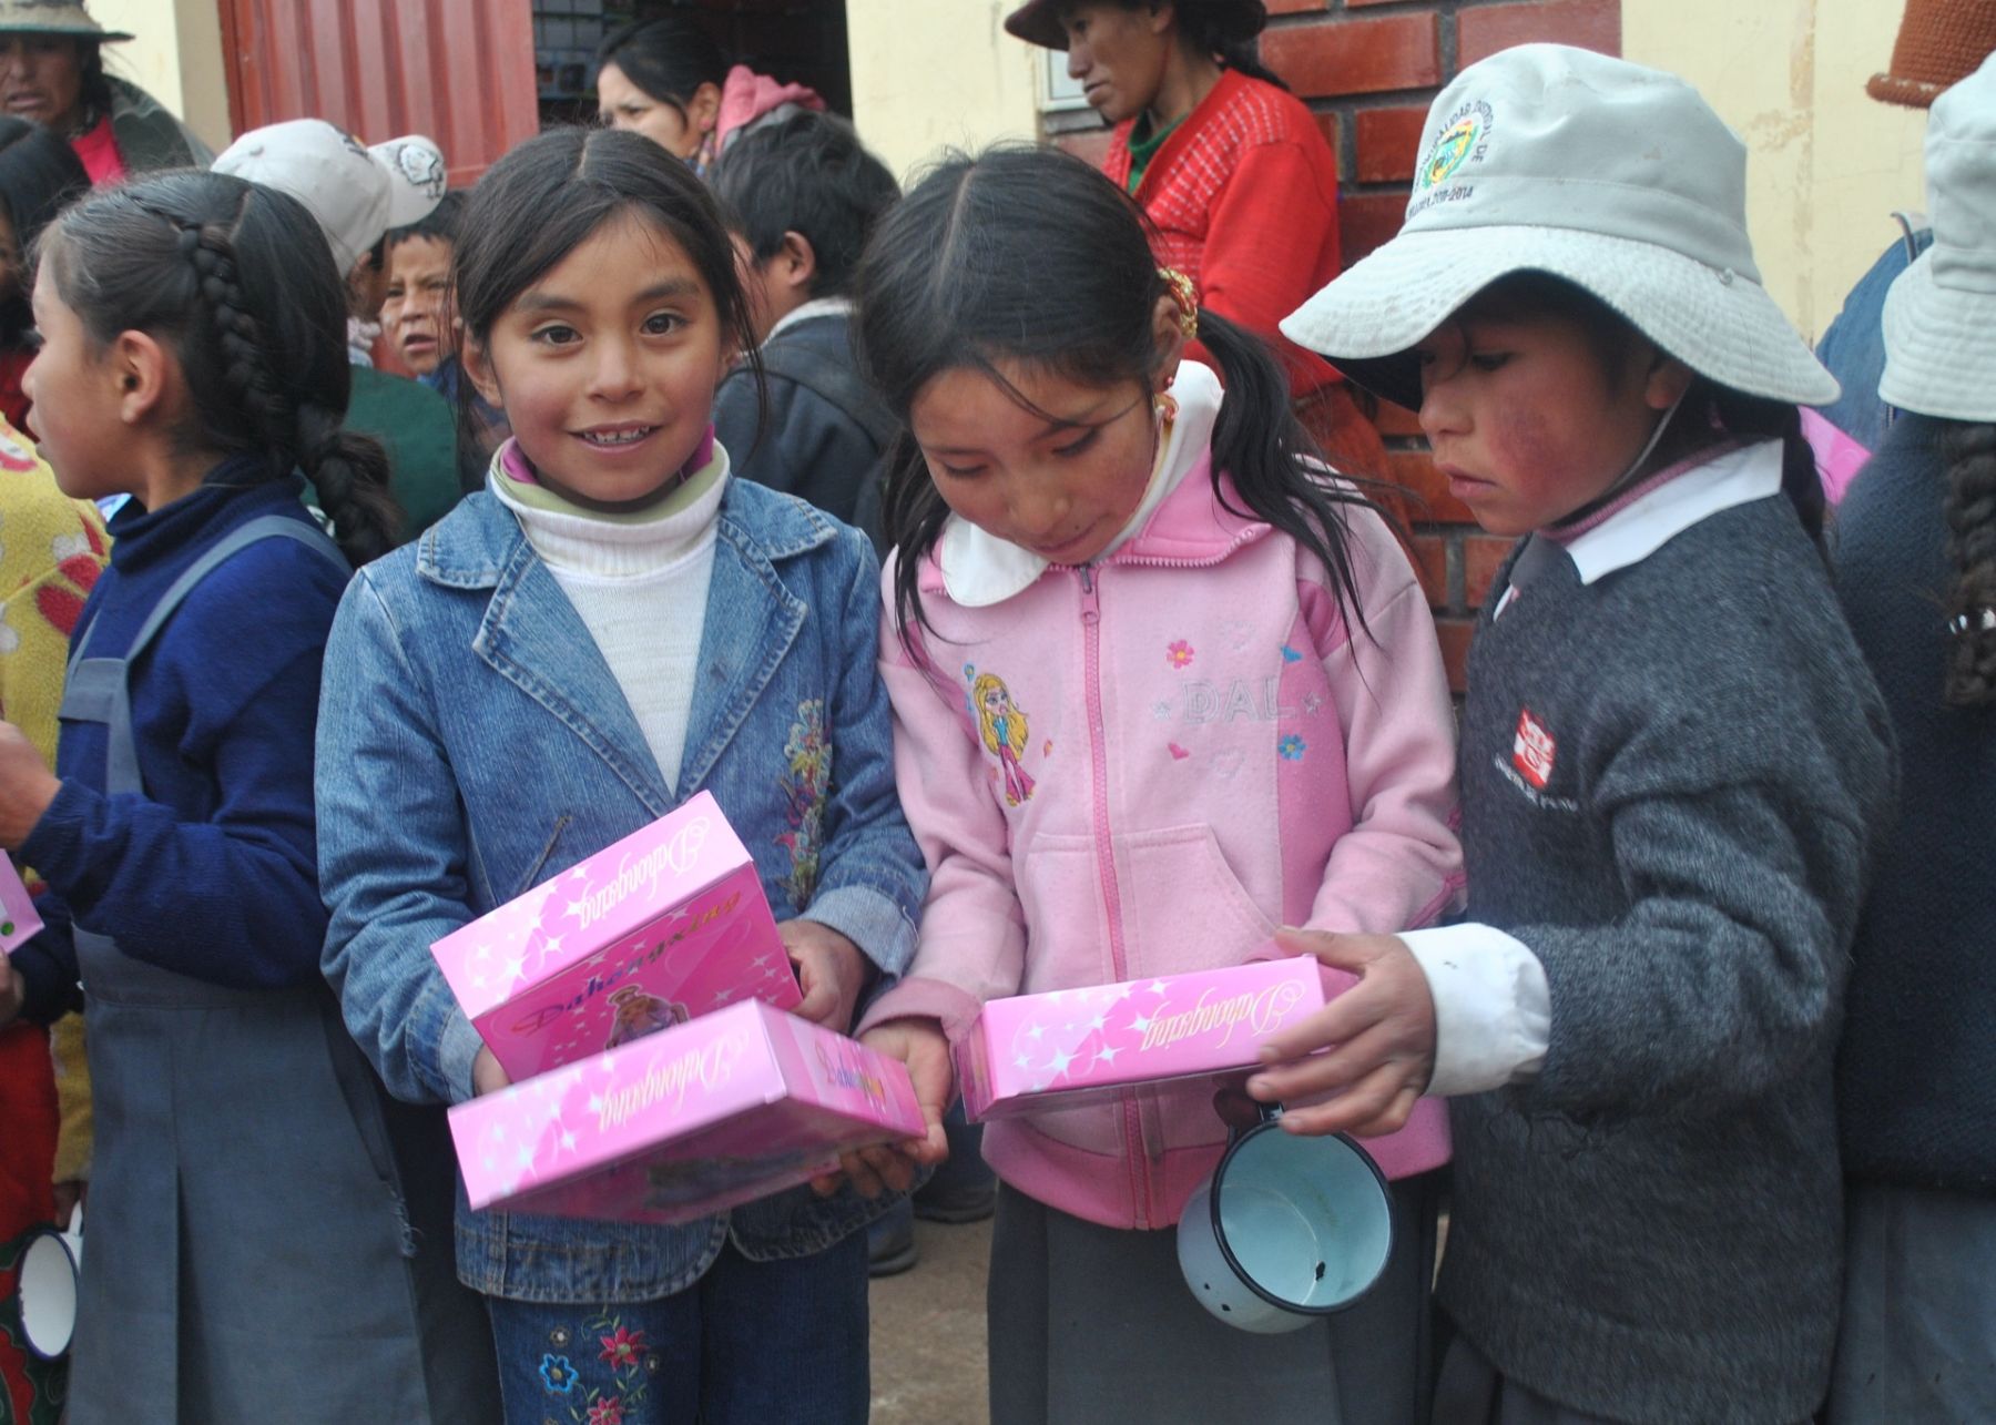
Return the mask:
<svg viewBox="0 0 1996 1425"><path fill-rule="evenodd" d="M864 1425L866 1233L637 1305L487 1297L507 1425Z"/></svg>

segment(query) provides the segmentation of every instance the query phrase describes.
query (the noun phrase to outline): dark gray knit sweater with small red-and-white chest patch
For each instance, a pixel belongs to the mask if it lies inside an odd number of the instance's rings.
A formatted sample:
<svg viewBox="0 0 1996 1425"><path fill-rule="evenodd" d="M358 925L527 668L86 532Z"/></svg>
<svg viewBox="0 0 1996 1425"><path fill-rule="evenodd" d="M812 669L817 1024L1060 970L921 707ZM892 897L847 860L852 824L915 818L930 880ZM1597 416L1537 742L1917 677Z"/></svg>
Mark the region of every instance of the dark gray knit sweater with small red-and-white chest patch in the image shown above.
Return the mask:
<svg viewBox="0 0 1996 1425"><path fill-rule="evenodd" d="M1830 1056L1894 770L1788 501L1587 587L1559 561L1485 615L1461 772L1471 918L1539 956L1553 1024L1535 1082L1453 1102L1445 1309L1581 1411L1804 1419L1840 1291Z"/></svg>

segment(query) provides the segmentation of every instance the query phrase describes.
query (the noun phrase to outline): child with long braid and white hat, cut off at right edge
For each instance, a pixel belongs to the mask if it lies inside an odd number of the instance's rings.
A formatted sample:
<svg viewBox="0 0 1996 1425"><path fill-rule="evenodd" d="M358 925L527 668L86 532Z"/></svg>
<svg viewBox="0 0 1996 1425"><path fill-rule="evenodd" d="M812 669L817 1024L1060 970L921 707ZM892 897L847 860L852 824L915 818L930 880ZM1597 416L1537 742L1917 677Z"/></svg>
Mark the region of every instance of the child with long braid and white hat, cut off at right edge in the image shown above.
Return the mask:
<svg viewBox="0 0 1996 1425"><path fill-rule="evenodd" d="M1996 60L1926 130L1934 243L1884 303L1896 419L1836 521L1836 589L1898 736L1900 822L1836 1062L1844 1321L1828 1419L1996 1419Z"/></svg>

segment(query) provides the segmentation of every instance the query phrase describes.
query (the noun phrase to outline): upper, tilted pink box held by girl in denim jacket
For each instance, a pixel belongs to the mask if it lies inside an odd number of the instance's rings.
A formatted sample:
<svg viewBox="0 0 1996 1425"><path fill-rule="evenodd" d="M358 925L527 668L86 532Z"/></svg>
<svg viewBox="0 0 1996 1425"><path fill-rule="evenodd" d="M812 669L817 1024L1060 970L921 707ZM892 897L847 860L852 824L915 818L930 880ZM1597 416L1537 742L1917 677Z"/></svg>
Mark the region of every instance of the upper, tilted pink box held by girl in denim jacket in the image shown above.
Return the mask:
<svg viewBox="0 0 1996 1425"><path fill-rule="evenodd" d="M711 792L429 952L515 1082L735 1000L802 1004L754 862Z"/></svg>

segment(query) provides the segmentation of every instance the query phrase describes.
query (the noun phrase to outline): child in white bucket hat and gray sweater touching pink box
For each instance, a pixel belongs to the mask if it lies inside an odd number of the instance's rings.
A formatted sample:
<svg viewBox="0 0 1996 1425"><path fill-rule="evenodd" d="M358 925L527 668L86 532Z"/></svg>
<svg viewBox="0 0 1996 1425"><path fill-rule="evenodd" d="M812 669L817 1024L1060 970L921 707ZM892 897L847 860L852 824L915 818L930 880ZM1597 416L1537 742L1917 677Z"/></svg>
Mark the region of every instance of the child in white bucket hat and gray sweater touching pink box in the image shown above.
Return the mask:
<svg viewBox="0 0 1996 1425"><path fill-rule="evenodd" d="M1359 986L1249 1092L1343 1090L1295 1132L1449 1096L1437 1421L1802 1421L1892 796L1798 429L1836 383L1760 287L1745 146L1681 80L1507 50L1437 98L1417 174L1401 234L1283 329L1419 407L1453 493L1527 537L1469 651L1469 922L1319 938Z"/></svg>

